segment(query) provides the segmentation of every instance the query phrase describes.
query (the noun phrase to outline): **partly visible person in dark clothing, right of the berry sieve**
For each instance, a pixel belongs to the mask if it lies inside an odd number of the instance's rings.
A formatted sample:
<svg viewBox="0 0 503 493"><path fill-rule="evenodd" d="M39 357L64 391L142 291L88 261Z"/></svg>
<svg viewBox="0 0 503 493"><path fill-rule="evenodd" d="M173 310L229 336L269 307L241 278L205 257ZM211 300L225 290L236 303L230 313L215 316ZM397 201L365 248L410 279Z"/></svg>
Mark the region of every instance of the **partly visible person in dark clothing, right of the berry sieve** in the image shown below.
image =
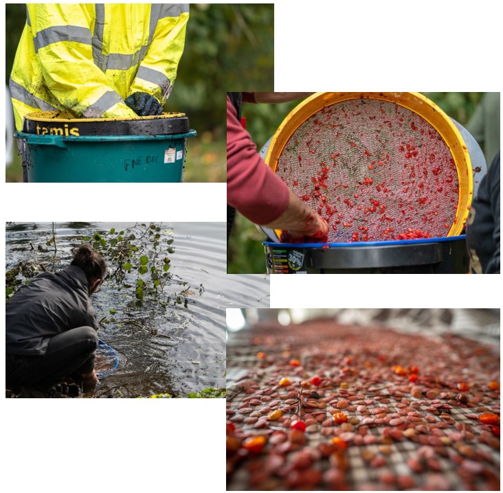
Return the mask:
<svg viewBox="0 0 503 493"><path fill-rule="evenodd" d="M467 219L467 249L473 274L500 273L500 151L482 178Z"/></svg>

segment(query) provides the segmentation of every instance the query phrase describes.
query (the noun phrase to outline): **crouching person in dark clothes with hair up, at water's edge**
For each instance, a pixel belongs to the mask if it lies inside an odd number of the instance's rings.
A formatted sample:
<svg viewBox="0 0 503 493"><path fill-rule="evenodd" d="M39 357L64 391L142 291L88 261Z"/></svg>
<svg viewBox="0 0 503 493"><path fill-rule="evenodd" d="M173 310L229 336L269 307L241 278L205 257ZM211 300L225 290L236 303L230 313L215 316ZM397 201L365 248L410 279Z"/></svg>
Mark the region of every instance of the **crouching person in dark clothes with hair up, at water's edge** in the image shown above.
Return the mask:
<svg viewBox="0 0 503 493"><path fill-rule="evenodd" d="M89 296L107 266L87 244L70 266L41 273L5 303L5 385L19 397L61 397L54 385L74 372L85 388L98 382L94 371L98 323Z"/></svg>

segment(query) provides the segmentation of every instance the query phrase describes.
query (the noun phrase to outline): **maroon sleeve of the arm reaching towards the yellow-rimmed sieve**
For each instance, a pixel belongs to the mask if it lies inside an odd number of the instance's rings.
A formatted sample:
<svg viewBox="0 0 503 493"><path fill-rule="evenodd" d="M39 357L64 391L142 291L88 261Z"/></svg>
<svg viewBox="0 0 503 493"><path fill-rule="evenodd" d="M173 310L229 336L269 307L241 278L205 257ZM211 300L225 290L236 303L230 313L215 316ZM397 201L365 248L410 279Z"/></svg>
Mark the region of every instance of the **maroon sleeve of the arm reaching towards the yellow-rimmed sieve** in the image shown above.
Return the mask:
<svg viewBox="0 0 503 493"><path fill-rule="evenodd" d="M257 152L227 98L227 203L258 225L267 225L287 209L289 189Z"/></svg>

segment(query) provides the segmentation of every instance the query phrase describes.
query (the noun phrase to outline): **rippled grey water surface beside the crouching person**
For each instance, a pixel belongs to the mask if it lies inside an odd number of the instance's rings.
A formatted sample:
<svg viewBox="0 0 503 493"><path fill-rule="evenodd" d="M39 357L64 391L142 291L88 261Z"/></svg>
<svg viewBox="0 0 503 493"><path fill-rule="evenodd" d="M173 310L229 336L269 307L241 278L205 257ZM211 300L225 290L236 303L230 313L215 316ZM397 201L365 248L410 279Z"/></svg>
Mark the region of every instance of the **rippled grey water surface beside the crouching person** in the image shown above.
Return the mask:
<svg viewBox="0 0 503 493"><path fill-rule="evenodd" d="M146 223L148 225L148 223ZM102 379L98 397L136 397L172 393L186 397L208 387L225 387L225 309L269 307L267 275L227 275L224 222L164 222L163 238L172 238L172 279L164 301L144 299L135 306L131 289L108 280L91 300L98 314L102 341L120 356L113 374ZM52 223L9 222L5 231L5 268L24 262L28 268L44 264L47 270L64 268L71 249L85 236L134 222L56 223L57 253L52 244ZM135 284L135 278L131 279ZM176 303L183 290L186 303ZM186 305L186 306L184 306ZM114 310L115 313L111 313Z"/></svg>

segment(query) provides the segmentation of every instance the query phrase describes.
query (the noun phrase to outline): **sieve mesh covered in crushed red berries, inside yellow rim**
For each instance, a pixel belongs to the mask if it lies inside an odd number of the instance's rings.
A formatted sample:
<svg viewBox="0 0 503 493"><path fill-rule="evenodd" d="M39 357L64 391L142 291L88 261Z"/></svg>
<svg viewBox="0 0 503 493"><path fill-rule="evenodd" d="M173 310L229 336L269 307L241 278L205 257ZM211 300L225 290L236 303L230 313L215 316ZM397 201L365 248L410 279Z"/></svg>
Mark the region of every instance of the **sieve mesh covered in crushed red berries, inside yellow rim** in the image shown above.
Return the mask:
<svg viewBox="0 0 503 493"><path fill-rule="evenodd" d="M458 174L447 144L392 102L318 111L295 130L276 173L325 218L331 242L440 238L456 220Z"/></svg>

